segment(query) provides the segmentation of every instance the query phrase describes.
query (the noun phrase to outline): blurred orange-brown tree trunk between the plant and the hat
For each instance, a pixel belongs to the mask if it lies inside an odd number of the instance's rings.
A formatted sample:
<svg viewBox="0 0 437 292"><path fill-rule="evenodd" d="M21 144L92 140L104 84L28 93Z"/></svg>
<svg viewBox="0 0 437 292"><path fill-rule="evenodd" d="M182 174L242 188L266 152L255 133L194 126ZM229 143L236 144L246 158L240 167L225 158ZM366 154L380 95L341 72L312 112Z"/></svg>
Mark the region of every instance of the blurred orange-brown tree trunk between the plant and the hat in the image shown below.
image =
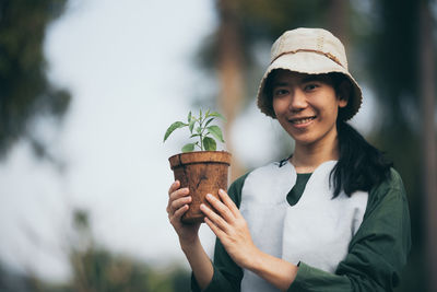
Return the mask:
<svg viewBox="0 0 437 292"><path fill-rule="evenodd" d="M227 150L233 153L233 141L231 129L235 118L241 108L244 98L244 77L243 77L243 37L236 13L237 1L217 0L220 14L218 27L218 79L221 92L218 96L220 107L222 108L227 121L225 124L225 141ZM231 179L234 180L243 174L244 170L236 155L233 155L231 164Z"/></svg>

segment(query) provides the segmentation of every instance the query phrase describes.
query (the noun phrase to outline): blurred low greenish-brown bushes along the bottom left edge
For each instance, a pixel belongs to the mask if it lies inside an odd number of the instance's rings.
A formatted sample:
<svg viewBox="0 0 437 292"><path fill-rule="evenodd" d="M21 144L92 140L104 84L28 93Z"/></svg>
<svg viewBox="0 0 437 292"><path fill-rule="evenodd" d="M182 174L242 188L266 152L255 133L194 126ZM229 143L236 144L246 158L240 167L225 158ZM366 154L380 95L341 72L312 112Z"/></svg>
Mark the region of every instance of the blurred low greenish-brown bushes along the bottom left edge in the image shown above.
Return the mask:
<svg viewBox="0 0 437 292"><path fill-rule="evenodd" d="M73 236L68 243L70 280L51 283L32 273L9 270L0 262L4 292L188 292L189 272L174 265L156 268L96 244L85 210L73 211Z"/></svg>

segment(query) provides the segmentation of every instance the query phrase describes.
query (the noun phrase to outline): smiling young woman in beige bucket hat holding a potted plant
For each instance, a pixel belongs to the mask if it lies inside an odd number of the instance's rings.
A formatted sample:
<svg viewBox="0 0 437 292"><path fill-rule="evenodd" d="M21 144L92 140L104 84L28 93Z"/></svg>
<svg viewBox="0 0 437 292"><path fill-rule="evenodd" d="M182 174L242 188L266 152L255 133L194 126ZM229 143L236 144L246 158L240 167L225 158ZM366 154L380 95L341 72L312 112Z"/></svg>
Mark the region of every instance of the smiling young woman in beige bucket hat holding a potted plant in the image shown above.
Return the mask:
<svg viewBox="0 0 437 292"><path fill-rule="evenodd" d="M192 268L193 291L392 291L410 250L399 174L346 120L362 103L344 47L320 28L285 32L272 47L258 106L294 139L294 153L238 178L216 211L211 262L191 197L169 188L167 212Z"/></svg>

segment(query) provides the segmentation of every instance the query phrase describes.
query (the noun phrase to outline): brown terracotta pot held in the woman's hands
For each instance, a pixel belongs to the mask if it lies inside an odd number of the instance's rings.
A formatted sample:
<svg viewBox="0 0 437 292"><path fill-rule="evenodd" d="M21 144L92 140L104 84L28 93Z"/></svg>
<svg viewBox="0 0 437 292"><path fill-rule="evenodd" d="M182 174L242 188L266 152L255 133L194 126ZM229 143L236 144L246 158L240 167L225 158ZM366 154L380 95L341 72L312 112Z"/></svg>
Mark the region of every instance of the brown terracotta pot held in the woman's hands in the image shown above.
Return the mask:
<svg viewBox="0 0 437 292"><path fill-rule="evenodd" d="M203 222L200 205L206 194L218 198L218 189L227 189L227 170L231 165L231 153L226 151L196 151L173 155L168 159L180 187L188 187L192 201L182 215L184 223Z"/></svg>

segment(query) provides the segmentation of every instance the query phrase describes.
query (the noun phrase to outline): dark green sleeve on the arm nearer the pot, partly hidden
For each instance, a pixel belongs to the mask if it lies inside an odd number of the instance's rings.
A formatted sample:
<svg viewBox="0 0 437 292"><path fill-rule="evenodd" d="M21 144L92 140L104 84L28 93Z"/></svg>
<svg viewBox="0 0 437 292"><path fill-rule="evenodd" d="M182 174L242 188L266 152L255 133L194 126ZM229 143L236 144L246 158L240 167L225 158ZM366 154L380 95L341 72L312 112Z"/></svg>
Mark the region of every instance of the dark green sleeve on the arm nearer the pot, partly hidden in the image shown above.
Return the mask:
<svg viewBox="0 0 437 292"><path fill-rule="evenodd" d="M227 191L238 208L241 201L241 188L247 175L248 174L235 180ZM215 240L213 268L214 273L211 283L203 290L203 292L240 291L243 269L229 257L218 238ZM192 273L191 290L193 292L201 291Z"/></svg>

